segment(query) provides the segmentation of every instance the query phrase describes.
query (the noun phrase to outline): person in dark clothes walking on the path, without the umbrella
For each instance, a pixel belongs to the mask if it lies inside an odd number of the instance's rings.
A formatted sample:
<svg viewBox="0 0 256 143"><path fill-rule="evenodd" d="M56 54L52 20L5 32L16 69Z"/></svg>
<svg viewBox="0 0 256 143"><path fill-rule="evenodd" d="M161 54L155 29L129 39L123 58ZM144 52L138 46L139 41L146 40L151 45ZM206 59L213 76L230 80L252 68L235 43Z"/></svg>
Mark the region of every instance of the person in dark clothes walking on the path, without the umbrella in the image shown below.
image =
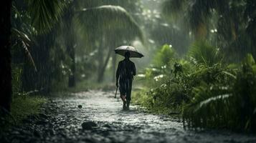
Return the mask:
<svg viewBox="0 0 256 143"><path fill-rule="evenodd" d="M136 75L136 66L130 60L130 52L125 51L125 59L119 61L116 71L116 87L119 87L120 98L123 101L123 109L129 109L131 102L131 89L133 76ZM118 84L119 83L119 84Z"/></svg>

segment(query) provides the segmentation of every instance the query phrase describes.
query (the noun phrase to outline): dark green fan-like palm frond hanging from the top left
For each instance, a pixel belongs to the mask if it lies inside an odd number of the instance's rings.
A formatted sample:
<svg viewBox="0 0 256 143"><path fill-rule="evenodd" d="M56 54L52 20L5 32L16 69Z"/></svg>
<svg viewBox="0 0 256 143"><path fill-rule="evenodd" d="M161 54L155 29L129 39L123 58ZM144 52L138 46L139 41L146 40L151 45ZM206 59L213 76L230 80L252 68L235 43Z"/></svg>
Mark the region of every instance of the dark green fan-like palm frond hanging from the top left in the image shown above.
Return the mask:
<svg viewBox="0 0 256 143"><path fill-rule="evenodd" d="M52 29L65 7L65 0L29 0L27 2L32 25L39 33Z"/></svg>

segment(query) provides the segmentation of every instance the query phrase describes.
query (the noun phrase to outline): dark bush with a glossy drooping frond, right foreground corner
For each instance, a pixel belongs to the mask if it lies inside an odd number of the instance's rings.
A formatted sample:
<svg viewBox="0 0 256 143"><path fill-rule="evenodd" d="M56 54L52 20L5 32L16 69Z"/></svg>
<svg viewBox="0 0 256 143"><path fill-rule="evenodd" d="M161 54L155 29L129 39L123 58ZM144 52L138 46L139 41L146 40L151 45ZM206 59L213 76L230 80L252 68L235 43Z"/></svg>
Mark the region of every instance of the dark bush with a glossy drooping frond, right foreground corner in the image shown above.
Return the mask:
<svg viewBox="0 0 256 143"><path fill-rule="evenodd" d="M220 79L220 82L203 82L194 87L193 98L184 107L186 125L240 131L255 130L255 67L252 55L248 54L240 69L236 71L236 76L223 72L227 74L227 78Z"/></svg>

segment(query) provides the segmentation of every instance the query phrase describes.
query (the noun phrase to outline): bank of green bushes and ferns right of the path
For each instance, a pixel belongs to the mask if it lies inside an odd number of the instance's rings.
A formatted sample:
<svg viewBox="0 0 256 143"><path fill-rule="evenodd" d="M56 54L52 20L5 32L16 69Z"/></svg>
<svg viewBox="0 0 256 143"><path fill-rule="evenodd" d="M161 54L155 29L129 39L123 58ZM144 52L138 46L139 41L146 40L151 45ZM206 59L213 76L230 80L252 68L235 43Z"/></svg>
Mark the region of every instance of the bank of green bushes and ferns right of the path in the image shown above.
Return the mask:
<svg viewBox="0 0 256 143"><path fill-rule="evenodd" d="M221 57L217 48L194 44L187 59L176 60L181 67L175 63L169 78L146 77L155 86L137 93L137 102L153 112L180 114L184 127L254 130L256 64L252 54L241 64L225 64L215 57Z"/></svg>

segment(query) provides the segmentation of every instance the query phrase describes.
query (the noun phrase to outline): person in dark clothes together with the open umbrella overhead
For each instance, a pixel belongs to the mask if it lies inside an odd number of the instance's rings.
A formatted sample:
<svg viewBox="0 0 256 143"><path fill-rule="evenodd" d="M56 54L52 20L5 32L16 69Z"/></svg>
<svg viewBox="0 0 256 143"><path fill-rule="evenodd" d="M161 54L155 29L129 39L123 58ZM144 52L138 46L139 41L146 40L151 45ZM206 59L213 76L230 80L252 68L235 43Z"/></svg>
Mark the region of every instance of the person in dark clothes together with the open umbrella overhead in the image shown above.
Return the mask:
<svg viewBox="0 0 256 143"><path fill-rule="evenodd" d="M142 57L133 46L120 46L115 49L116 54L125 56L125 59L119 61L116 71L116 87L119 87L120 98L123 100L123 109L129 109L131 102L131 88L133 76L136 75L136 66L130 57ZM119 84L118 84L119 82Z"/></svg>

